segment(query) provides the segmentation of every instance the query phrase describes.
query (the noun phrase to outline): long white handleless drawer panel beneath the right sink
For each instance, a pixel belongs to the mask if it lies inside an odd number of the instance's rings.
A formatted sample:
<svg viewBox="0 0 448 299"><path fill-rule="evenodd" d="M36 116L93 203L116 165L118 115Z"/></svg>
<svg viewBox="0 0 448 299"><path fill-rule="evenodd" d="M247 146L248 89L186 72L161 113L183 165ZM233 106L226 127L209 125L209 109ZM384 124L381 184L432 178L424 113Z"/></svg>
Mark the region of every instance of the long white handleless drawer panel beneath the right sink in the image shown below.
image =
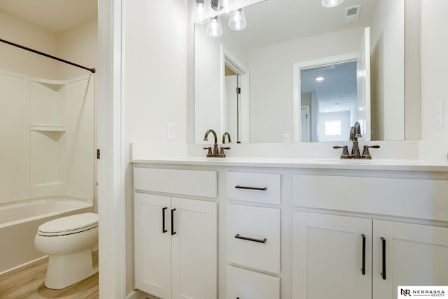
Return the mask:
<svg viewBox="0 0 448 299"><path fill-rule="evenodd" d="M293 175L294 205L447 221L448 181Z"/></svg>

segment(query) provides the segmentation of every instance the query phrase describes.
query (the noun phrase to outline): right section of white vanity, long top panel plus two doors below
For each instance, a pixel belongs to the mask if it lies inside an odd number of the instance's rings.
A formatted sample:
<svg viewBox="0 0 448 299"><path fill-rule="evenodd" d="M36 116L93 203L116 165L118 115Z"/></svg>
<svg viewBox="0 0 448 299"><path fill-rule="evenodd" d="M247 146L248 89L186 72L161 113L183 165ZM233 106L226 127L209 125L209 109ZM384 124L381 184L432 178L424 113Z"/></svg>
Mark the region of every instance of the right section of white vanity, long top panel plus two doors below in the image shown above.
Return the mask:
<svg viewBox="0 0 448 299"><path fill-rule="evenodd" d="M322 298L321 290L329 290L336 299L395 299L397 286L447 284L447 181L314 175L293 181L300 206L293 212L293 298ZM316 212L302 211L310 209ZM435 220L444 226L431 225Z"/></svg>

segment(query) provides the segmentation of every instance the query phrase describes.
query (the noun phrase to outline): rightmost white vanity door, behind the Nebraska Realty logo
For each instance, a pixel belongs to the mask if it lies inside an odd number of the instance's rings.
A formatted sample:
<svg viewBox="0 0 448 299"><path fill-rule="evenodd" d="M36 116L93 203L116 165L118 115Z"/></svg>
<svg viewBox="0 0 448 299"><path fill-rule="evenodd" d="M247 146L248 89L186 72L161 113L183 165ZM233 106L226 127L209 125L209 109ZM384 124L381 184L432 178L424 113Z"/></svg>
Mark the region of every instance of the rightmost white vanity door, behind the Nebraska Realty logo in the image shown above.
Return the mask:
<svg viewBox="0 0 448 299"><path fill-rule="evenodd" d="M397 286L448 284L448 228L374 220L373 251L374 299L397 298Z"/></svg>

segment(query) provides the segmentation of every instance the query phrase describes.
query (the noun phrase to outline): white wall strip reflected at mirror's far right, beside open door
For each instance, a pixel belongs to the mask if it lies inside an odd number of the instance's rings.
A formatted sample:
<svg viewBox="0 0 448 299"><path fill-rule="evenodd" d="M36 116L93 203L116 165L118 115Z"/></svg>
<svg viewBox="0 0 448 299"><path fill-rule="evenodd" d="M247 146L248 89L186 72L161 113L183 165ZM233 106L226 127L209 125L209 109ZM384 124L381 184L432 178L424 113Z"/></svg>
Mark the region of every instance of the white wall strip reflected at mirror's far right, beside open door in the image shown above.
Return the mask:
<svg viewBox="0 0 448 299"><path fill-rule="evenodd" d="M372 103L381 109L375 136L381 140L404 138L404 36L405 1L379 0L370 26ZM374 122L375 123L375 122ZM373 128L372 128L373 129ZM379 129L379 130L378 130ZM375 137L373 137L375 138Z"/></svg>

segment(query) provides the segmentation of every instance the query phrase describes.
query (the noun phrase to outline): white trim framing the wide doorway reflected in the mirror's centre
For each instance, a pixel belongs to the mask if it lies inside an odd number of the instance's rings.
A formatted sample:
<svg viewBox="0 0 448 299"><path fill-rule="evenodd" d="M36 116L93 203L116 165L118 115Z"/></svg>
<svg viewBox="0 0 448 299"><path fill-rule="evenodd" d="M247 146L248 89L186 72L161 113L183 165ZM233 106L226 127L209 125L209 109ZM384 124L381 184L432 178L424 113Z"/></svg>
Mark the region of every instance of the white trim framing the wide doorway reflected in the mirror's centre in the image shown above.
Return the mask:
<svg viewBox="0 0 448 299"><path fill-rule="evenodd" d="M315 68L317 66L327 66L329 64L340 64L347 61L357 61L359 57L358 52L351 52L336 56L323 57L319 59L312 59L307 61L299 61L293 63L293 140L295 143L302 142L302 133L300 129L301 124L301 97L300 94L300 71L307 68Z"/></svg>

